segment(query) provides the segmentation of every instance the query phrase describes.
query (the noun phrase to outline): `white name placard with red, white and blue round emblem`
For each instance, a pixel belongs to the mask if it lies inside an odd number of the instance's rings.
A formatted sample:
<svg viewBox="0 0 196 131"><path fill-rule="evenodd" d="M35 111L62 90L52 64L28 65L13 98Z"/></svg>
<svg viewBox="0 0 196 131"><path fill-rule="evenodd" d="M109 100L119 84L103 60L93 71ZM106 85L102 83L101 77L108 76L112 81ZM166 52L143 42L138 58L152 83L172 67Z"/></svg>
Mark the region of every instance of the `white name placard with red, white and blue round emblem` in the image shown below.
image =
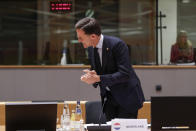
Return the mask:
<svg viewBox="0 0 196 131"><path fill-rule="evenodd" d="M114 119L112 131L147 131L147 119Z"/></svg>

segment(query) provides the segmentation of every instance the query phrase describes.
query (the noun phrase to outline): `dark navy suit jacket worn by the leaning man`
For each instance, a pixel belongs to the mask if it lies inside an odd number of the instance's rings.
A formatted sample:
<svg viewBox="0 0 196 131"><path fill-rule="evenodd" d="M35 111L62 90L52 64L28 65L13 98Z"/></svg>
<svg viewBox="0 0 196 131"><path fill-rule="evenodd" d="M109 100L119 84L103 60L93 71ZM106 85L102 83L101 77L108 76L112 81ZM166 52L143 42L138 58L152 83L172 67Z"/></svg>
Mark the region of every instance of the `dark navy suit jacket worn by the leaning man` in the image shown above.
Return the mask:
<svg viewBox="0 0 196 131"><path fill-rule="evenodd" d="M102 73L98 72L95 65L93 47L88 48L88 53L91 69L101 74L101 82L98 83L100 88L109 87L115 101L128 112L141 108L145 99L140 81L130 64L127 45L119 38L104 36Z"/></svg>

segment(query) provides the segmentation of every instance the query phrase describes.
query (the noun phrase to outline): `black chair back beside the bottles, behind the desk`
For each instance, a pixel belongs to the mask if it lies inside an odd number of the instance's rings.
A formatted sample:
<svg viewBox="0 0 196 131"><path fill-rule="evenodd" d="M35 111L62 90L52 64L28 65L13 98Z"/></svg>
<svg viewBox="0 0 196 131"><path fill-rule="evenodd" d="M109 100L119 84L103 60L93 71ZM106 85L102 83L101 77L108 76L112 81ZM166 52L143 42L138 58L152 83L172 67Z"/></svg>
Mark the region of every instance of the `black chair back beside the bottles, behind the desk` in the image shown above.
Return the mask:
<svg viewBox="0 0 196 131"><path fill-rule="evenodd" d="M90 123L105 124L106 123L105 115L102 112L101 101L88 101L85 104L85 108L86 108L86 124L90 124Z"/></svg>

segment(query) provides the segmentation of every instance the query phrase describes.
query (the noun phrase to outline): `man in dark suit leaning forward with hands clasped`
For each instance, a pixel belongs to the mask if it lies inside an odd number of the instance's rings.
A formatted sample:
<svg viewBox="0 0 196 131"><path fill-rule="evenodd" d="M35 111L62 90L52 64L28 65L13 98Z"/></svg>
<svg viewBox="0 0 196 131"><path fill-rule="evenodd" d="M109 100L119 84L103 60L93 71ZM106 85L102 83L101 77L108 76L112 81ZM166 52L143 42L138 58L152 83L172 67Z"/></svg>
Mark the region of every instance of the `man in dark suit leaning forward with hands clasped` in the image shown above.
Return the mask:
<svg viewBox="0 0 196 131"><path fill-rule="evenodd" d="M81 80L99 86L107 120L137 118L144 102L139 78L130 64L127 45L116 37L101 34L94 18L83 18L75 25L78 41L88 48L91 70Z"/></svg>

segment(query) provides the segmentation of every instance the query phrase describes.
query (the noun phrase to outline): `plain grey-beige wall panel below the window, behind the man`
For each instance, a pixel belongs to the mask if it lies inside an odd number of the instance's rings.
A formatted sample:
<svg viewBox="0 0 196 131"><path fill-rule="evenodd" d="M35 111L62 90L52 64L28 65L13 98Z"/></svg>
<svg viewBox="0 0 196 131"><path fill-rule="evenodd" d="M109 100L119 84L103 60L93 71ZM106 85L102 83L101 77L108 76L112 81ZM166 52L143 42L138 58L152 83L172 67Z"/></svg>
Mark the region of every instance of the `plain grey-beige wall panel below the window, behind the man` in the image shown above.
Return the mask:
<svg viewBox="0 0 196 131"><path fill-rule="evenodd" d="M0 101L100 100L99 89L80 81L84 68L0 69ZM195 95L196 70L137 68L145 98ZM155 86L162 91L156 92Z"/></svg>

